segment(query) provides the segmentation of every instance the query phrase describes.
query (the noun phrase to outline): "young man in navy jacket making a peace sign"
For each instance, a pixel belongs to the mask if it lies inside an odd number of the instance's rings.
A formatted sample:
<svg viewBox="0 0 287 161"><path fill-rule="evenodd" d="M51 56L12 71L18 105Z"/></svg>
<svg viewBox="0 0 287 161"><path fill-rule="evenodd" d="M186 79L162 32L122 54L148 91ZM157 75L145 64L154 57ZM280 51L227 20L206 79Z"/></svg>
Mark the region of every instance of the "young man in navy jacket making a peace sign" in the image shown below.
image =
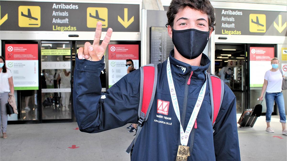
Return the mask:
<svg viewBox="0 0 287 161"><path fill-rule="evenodd" d="M208 0L173 0L167 17L168 34L175 46L168 60L157 65L154 102L133 147L131 160L240 160L236 99L227 85L212 127L205 74L210 60L202 52L214 31L214 8ZM103 55L111 34L112 29L108 29L99 46L101 23L98 22L94 44L87 42L84 49L79 48L73 101L77 123L83 132L97 133L138 121L140 70L127 74L107 93L101 93L99 74L104 68ZM83 57L86 59L82 60ZM200 93L203 89L205 92ZM171 99L171 91L176 92L177 106ZM191 126L189 119L199 96L204 99ZM166 113L157 110L158 102L168 103ZM192 129L190 135L182 136L186 129ZM190 156L177 158L181 146L188 149L185 152Z"/></svg>

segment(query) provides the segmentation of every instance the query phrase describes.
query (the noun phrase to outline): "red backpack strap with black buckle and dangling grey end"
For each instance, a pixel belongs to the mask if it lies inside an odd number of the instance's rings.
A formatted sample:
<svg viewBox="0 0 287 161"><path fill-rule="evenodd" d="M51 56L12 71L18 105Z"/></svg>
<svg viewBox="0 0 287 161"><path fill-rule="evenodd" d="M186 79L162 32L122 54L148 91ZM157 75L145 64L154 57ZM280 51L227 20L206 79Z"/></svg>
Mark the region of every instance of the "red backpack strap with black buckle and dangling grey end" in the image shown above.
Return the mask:
<svg viewBox="0 0 287 161"><path fill-rule="evenodd" d="M155 64L147 64L140 67L141 81L140 81L140 95L139 95L139 110L138 110L138 126L135 138L131 145L127 148L126 152L130 153L144 122L148 119L154 96L156 93L156 84L158 81L158 68Z"/></svg>

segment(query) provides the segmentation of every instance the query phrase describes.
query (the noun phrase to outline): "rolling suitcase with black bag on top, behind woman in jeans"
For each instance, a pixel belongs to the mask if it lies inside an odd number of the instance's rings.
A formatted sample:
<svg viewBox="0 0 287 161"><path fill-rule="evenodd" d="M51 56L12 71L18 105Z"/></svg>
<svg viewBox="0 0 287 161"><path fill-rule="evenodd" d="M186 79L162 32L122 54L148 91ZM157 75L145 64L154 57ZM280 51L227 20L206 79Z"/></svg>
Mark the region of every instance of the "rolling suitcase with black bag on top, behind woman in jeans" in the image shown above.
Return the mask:
<svg viewBox="0 0 287 161"><path fill-rule="evenodd" d="M261 101L262 103L262 101ZM262 105L258 104L253 109L246 109L243 111L240 119L238 120L239 127L253 127L257 117L261 116Z"/></svg>

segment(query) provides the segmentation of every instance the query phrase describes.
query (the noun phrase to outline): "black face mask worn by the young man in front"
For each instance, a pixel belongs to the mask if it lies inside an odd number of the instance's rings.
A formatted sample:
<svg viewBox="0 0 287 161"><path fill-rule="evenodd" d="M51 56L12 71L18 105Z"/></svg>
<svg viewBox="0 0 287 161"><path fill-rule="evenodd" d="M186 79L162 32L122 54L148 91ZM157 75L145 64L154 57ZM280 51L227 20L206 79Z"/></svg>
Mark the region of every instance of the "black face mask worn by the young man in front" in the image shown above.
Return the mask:
<svg viewBox="0 0 287 161"><path fill-rule="evenodd" d="M187 59L197 58L203 52L208 39L209 31L172 29L172 42L179 54Z"/></svg>

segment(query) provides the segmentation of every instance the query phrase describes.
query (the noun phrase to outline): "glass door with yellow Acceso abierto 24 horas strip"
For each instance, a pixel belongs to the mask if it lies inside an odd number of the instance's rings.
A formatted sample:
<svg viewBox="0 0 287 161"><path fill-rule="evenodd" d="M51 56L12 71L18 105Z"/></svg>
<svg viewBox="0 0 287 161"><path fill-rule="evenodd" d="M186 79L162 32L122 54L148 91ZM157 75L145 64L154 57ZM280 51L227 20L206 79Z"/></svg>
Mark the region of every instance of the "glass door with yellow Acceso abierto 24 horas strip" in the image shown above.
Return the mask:
<svg viewBox="0 0 287 161"><path fill-rule="evenodd" d="M71 49L70 42L42 42L42 119L71 119Z"/></svg>

